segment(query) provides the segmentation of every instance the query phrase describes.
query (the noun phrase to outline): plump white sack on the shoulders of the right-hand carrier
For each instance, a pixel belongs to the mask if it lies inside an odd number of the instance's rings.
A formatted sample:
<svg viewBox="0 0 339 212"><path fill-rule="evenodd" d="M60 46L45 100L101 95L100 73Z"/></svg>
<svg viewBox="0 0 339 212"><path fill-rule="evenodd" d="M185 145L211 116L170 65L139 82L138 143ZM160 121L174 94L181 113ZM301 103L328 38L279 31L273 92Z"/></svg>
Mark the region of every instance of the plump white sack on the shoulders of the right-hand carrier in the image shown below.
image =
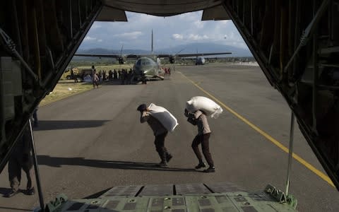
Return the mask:
<svg viewBox="0 0 339 212"><path fill-rule="evenodd" d="M186 109L189 112L196 112L196 110L202 110L207 116L212 118L218 118L222 113L220 105L215 103L213 100L203 96L195 96L191 100L186 102Z"/></svg>

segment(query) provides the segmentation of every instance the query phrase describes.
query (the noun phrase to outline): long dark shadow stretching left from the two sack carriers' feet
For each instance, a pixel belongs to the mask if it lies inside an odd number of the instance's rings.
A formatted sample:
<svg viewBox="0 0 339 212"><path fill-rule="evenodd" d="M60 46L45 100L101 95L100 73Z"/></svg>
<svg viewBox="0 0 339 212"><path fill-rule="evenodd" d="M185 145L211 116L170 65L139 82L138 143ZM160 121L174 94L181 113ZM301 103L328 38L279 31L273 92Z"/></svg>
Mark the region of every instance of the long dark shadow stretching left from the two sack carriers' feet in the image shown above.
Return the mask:
<svg viewBox="0 0 339 212"><path fill-rule="evenodd" d="M61 165L79 165L88 167L101 167L120 170L153 170L167 172L195 172L194 169L175 168L175 167L158 167L156 163L141 163L131 161L117 160L94 160L85 158L60 158L49 155L37 155L39 165L49 165L51 167L61 167Z"/></svg>

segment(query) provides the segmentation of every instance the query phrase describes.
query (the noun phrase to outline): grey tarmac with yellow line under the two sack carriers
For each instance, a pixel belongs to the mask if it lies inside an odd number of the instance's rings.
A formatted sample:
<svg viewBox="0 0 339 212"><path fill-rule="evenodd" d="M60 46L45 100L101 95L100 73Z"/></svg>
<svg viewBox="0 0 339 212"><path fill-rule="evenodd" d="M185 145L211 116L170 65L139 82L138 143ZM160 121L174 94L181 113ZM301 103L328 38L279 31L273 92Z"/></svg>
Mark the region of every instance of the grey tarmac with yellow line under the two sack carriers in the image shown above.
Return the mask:
<svg viewBox="0 0 339 212"><path fill-rule="evenodd" d="M187 100L208 94L224 107L218 119L208 119L215 173L193 169L198 161L191 141L197 129L184 117ZM154 166L160 162L154 136L148 124L139 122L136 111L143 102L166 107L178 119L179 126L165 141L174 156L168 167ZM44 201L60 193L80 199L130 184L232 182L249 191L263 190L266 184L285 191L287 153L225 106L288 147L290 109L256 66L177 66L165 81L127 86L110 83L40 107L35 143ZM292 162L290 194L298 200L297 209L339 211L339 193L314 173L324 171L297 124L294 149L314 167ZM21 189L25 182L23 173ZM5 169L0 175L0 192L8 187ZM0 211L29 211L38 205L37 195L0 197Z"/></svg>

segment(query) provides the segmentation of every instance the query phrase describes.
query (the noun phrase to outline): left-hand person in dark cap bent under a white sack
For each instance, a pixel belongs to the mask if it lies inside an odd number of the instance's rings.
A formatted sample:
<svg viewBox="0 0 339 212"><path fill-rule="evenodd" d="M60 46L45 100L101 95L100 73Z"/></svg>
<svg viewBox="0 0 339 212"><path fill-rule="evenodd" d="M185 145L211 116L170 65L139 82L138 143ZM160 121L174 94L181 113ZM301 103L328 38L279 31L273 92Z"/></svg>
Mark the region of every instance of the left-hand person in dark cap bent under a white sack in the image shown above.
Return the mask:
<svg viewBox="0 0 339 212"><path fill-rule="evenodd" d="M153 129L155 136L155 149L160 156L161 162L158 164L160 167L166 167L169 160L172 159L172 155L168 153L165 148L165 137L167 136L167 129L150 114L150 110L145 104L139 105L136 109L141 113L140 122L147 122L150 128Z"/></svg>

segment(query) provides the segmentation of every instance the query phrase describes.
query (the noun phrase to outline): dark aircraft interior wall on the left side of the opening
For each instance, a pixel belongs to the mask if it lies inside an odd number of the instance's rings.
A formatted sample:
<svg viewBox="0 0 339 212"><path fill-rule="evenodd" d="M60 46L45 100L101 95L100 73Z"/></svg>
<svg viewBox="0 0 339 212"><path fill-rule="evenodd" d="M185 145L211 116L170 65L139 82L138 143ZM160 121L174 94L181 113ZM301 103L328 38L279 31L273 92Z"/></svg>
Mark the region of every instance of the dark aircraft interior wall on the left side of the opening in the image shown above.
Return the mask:
<svg viewBox="0 0 339 212"><path fill-rule="evenodd" d="M59 81L101 6L95 0L0 2L0 170L11 143Z"/></svg>

